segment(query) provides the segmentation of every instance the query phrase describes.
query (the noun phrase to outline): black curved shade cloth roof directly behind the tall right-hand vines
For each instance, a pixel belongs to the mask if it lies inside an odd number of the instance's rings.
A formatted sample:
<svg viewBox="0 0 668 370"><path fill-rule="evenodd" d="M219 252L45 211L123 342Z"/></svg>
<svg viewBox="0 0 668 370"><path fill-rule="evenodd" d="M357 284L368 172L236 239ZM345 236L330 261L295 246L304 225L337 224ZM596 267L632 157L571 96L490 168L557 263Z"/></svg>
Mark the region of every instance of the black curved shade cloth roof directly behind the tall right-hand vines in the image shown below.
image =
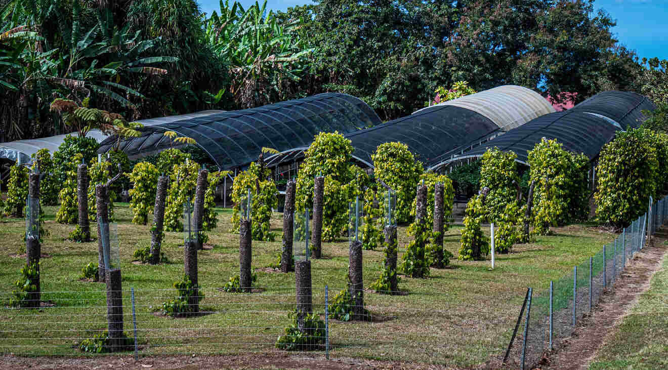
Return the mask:
<svg viewBox="0 0 668 370"><path fill-rule="evenodd" d="M480 157L488 148L494 147L503 151L512 150L517 154L517 160L526 164L528 151L532 150L541 138L556 139L557 142L563 144L564 150L584 153L591 160L598 156L601 148L615 137L617 130L620 130L618 126L595 114L574 110L550 113L465 152L463 156L451 158L434 167L438 168L454 160Z"/></svg>

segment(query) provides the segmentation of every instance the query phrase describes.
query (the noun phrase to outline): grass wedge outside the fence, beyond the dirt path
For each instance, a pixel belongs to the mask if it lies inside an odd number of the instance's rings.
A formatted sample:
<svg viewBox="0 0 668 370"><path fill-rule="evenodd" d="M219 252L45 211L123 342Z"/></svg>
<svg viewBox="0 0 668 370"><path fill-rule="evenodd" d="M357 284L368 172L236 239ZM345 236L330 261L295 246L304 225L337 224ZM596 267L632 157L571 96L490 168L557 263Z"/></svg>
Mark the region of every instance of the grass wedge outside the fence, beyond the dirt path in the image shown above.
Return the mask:
<svg viewBox="0 0 668 370"><path fill-rule="evenodd" d="M590 369L668 368L668 258Z"/></svg>

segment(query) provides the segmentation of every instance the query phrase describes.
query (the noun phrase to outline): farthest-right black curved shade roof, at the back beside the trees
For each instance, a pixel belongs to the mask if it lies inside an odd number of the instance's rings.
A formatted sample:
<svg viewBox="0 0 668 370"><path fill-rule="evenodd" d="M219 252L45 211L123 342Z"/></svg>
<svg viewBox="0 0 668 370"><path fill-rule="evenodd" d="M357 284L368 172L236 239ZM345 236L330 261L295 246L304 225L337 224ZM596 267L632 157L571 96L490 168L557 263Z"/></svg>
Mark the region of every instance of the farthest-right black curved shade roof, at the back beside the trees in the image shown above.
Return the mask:
<svg viewBox="0 0 668 370"><path fill-rule="evenodd" d="M630 91L603 91L570 110L600 114L627 128L639 127L645 116L643 110L655 110L657 106L642 95Z"/></svg>

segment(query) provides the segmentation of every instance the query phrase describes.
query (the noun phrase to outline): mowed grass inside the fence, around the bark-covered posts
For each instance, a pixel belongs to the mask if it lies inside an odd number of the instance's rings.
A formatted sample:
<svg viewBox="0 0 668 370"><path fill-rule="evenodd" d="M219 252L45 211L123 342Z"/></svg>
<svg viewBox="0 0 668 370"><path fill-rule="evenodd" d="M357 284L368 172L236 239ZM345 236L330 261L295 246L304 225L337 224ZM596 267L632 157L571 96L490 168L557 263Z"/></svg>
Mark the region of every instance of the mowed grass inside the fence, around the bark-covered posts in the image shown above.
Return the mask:
<svg viewBox="0 0 668 370"><path fill-rule="evenodd" d="M24 248L23 220L0 220L0 351L31 355L82 355L75 348L82 339L106 329L106 293L102 283L78 279L81 268L97 261L97 242L63 240L73 225L53 220L55 207L46 207L51 235L42 245L43 300L55 307L41 311L5 308L24 258L12 256ZM150 242L149 226L135 225L128 204L116 204L122 257L125 329L132 335L134 288L140 353L239 353L277 351L274 343L289 325L295 307L295 274L267 268L281 250L282 214L272 217L275 242L253 241L256 293L224 293L220 288L238 274L238 235L230 234L230 210L218 210L218 227L208 232L211 250L198 254L199 283L205 298L201 307L210 315L173 319L156 313L172 299L174 281L183 275L182 233L167 232L162 250L170 263L151 266L131 261L139 246ZM94 230L94 228L92 228ZM488 232L488 230L487 230ZM399 261L410 238L399 227ZM445 246L455 256L460 228L451 227ZM613 235L587 226L556 229L556 235L516 245L511 254L498 255L496 270L490 261L463 262L454 258L450 268L432 268L428 279L401 276L402 295L367 291L365 303L372 322L330 320L331 355L375 359L446 363L470 366L502 355L527 287L546 289L550 280L572 270L593 255ZM325 311L329 299L346 287L348 243L345 238L323 244L325 258L313 260L314 311ZM379 276L382 250L364 251L364 285ZM51 293L49 293L51 292ZM324 315L321 316L324 319Z"/></svg>

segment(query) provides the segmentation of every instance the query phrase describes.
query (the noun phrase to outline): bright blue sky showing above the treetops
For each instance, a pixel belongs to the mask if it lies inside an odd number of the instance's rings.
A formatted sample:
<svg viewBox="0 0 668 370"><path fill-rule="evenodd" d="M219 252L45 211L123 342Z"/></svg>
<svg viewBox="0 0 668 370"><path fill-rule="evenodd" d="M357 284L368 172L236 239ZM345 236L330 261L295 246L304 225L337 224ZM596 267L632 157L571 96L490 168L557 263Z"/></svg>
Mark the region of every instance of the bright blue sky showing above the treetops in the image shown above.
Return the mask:
<svg viewBox="0 0 668 370"><path fill-rule="evenodd" d="M230 3L233 0L230 0ZM218 0L198 0L202 11L218 11ZM311 0L268 0L267 8L285 10ZM244 7L255 1L241 0ZM639 57L668 59L668 0L596 0L595 9L605 9L617 21L613 33Z"/></svg>

